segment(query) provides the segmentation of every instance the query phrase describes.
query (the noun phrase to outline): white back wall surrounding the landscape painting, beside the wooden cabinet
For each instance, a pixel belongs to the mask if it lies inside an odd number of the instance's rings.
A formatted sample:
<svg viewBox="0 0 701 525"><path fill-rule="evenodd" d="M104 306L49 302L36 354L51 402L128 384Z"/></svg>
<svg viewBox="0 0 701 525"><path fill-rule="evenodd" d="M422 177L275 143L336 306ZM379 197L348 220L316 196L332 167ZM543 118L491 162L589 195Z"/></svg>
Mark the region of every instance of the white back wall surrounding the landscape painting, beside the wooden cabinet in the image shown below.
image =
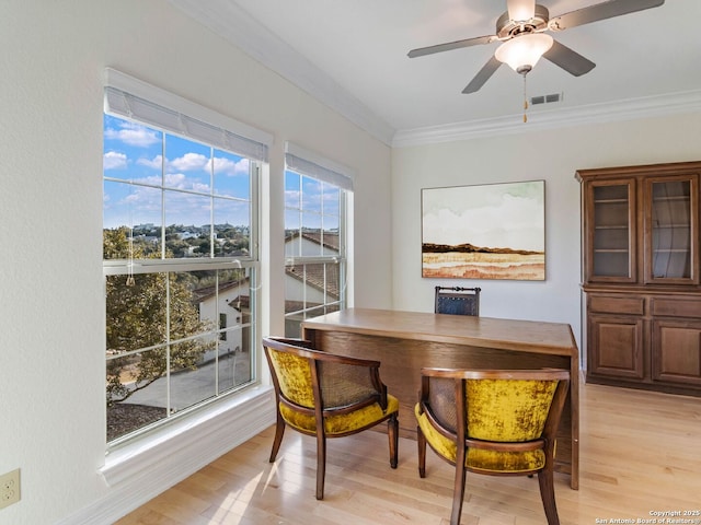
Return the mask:
<svg viewBox="0 0 701 525"><path fill-rule="evenodd" d="M430 312L434 287L479 285L480 314L572 325L581 345L582 168L701 159L701 113L588 125L392 152L393 306ZM545 280L422 279L421 189L545 180Z"/></svg>

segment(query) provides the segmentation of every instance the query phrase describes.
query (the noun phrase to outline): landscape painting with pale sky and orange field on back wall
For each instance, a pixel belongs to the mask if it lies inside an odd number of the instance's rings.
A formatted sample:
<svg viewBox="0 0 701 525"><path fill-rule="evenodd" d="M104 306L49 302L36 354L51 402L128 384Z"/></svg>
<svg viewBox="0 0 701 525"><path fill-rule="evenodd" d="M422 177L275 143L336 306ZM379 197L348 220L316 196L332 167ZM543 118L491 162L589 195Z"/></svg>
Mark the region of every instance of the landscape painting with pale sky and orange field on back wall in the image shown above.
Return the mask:
<svg viewBox="0 0 701 525"><path fill-rule="evenodd" d="M545 182L422 189L422 277L545 279Z"/></svg>

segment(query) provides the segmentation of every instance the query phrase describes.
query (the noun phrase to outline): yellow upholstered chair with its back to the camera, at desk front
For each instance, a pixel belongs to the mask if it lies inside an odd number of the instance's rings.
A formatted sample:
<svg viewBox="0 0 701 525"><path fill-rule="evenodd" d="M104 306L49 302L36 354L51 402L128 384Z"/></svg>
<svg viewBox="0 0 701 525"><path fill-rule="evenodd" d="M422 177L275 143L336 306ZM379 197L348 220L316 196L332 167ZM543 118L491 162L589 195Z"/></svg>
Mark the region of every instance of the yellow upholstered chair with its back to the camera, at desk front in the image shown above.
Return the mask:
<svg viewBox="0 0 701 525"><path fill-rule="evenodd" d="M548 524L560 523L553 463L568 386L566 370L422 370L418 474L426 476L426 443L456 466L451 525L460 523L467 470L538 474Z"/></svg>

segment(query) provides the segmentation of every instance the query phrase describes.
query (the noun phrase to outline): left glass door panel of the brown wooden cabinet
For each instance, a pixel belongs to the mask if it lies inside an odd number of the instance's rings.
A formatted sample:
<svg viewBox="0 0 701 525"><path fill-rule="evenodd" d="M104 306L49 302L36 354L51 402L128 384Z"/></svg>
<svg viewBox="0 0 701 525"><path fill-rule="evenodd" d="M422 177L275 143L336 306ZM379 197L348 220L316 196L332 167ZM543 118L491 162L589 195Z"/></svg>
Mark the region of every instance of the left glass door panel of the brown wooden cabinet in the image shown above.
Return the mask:
<svg viewBox="0 0 701 525"><path fill-rule="evenodd" d="M633 180L591 186L590 280L634 280Z"/></svg>

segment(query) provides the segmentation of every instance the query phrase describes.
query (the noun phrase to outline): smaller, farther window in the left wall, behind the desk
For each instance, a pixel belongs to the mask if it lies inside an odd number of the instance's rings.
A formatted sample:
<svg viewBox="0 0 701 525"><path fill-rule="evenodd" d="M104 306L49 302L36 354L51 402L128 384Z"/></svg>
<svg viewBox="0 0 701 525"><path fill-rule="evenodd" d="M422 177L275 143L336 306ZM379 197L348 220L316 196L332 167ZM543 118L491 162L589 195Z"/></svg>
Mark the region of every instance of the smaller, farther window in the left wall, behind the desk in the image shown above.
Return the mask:
<svg viewBox="0 0 701 525"><path fill-rule="evenodd" d="M346 306L349 170L287 144L285 171L285 335Z"/></svg>

